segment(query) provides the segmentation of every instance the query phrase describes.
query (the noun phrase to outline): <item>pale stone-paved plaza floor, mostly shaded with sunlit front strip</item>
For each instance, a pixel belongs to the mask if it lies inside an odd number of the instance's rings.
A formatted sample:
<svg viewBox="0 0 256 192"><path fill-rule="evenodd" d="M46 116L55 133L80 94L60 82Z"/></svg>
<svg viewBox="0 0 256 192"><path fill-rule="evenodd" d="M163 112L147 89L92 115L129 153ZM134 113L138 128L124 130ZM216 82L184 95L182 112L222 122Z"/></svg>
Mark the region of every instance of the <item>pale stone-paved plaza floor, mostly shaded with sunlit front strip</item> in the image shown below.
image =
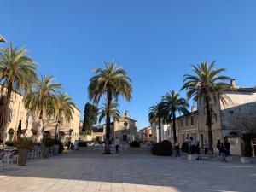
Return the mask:
<svg viewBox="0 0 256 192"><path fill-rule="evenodd" d="M256 165L73 151L0 172L0 191L255 192Z"/></svg>

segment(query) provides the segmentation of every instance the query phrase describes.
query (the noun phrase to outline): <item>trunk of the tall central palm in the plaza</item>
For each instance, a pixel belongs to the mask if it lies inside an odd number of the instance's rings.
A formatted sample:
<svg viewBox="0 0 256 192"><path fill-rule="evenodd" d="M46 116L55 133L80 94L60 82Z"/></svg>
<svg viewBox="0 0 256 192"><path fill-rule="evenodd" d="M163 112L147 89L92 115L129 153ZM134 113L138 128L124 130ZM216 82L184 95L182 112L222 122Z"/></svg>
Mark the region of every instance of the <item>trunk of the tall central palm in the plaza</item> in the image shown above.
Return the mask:
<svg viewBox="0 0 256 192"><path fill-rule="evenodd" d="M111 154L110 153L110 148L109 148L109 137L110 137L110 124L111 124L111 119L110 119L110 107L111 107L111 102L112 102L112 92L111 90L108 91L108 106L107 106L107 114L106 114L106 139L105 139L105 152L104 154Z"/></svg>

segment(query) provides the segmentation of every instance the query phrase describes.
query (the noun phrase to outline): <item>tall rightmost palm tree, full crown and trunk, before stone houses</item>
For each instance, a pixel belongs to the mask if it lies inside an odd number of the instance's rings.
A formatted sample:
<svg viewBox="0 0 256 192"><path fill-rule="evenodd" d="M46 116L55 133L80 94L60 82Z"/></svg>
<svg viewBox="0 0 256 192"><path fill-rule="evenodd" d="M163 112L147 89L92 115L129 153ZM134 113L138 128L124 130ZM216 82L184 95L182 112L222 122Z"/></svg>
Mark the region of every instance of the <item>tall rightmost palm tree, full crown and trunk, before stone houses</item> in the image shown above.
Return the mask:
<svg viewBox="0 0 256 192"><path fill-rule="evenodd" d="M220 75L224 68L215 69L215 62L207 64L201 62L198 66L193 66L194 75L186 74L183 79L182 90L187 90L188 98L194 98L195 102L204 102L207 111L207 133L209 142L209 152L213 154L212 138L212 111L210 101L219 99L224 105L231 102L230 97L224 94L226 88L230 88L227 81L229 77Z"/></svg>

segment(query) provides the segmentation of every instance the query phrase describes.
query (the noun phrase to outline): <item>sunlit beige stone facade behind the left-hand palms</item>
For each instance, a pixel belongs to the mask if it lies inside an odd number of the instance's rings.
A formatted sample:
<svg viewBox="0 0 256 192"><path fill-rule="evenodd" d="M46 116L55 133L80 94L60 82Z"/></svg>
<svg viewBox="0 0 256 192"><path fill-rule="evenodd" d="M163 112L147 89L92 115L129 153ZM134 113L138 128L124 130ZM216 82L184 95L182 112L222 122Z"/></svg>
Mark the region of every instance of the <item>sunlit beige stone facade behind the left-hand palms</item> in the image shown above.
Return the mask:
<svg viewBox="0 0 256 192"><path fill-rule="evenodd" d="M8 126L6 131L7 140L12 139L14 132L17 131L19 123L21 123L22 133L26 132L28 119L28 111L26 110L23 103L23 96L19 93L13 92L11 95L11 103L9 110ZM33 122L32 132L37 134L38 124L37 118ZM79 122L80 122L80 111L78 108L74 108L73 119L67 123L64 119L63 124L60 126L61 140L64 142L71 137L72 142L79 138ZM44 118L44 132L47 133L48 137L54 137L55 135L55 120L52 118L48 120ZM72 130L72 132L70 131ZM35 136L34 136L35 137Z"/></svg>

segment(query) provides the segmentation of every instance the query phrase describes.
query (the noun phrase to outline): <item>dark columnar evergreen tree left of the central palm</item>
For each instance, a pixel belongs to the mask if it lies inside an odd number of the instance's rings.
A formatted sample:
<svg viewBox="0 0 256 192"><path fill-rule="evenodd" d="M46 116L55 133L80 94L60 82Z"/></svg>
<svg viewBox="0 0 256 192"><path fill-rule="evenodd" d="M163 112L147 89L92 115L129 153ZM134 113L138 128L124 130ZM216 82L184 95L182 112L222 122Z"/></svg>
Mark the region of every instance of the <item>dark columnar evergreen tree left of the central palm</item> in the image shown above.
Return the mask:
<svg viewBox="0 0 256 192"><path fill-rule="evenodd" d="M85 132L85 134L91 134L92 126L97 122L97 113L98 108L96 106L90 104L89 102L85 104L84 122L82 128L82 131Z"/></svg>

